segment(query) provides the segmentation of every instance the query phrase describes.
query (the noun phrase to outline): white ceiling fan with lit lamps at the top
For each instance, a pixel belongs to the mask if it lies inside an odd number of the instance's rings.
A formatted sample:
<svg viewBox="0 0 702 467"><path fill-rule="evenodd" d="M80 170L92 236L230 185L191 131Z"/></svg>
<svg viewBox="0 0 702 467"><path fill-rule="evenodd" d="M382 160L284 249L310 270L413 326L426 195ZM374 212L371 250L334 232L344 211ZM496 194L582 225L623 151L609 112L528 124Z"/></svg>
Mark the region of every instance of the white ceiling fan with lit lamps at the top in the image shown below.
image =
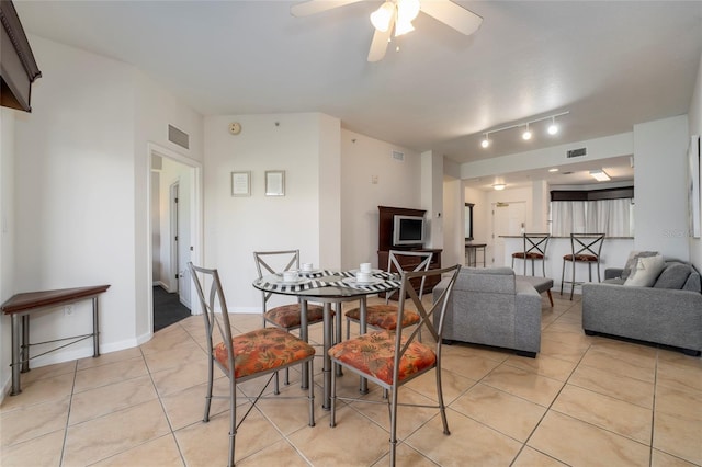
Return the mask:
<svg viewBox="0 0 702 467"><path fill-rule="evenodd" d="M307 16L360 1L363 0L307 0L292 5L290 11L293 16ZM369 61L378 61L385 57L393 31L395 36L414 31L411 22L420 11L466 36L476 32L483 22L483 18L451 0L422 0L421 3L420 0L386 0L371 14L375 33L369 50Z"/></svg>

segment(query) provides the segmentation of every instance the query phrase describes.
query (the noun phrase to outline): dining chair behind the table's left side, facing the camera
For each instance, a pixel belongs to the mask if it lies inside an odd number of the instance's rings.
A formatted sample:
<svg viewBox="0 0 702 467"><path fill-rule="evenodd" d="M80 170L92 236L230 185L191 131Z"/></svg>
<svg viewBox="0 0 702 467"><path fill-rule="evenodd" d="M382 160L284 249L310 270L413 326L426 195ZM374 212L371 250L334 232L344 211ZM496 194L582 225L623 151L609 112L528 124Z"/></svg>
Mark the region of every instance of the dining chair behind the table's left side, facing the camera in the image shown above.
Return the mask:
<svg viewBox="0 0 702 467"><path fill-rule="evenodd" d="M299 270L299 250L254 251L253 260L259 278L264 274L282 274L285 271ZM269 309L269 300L272 296L273 293L261 291L263 327L272 324L287 332L299 330L302 327L299 299L296 304L280 305ZM307 326L324 322L324 318L321 306L307 304ZM285 372L285 384L290 384L288 372Z"/></svg>

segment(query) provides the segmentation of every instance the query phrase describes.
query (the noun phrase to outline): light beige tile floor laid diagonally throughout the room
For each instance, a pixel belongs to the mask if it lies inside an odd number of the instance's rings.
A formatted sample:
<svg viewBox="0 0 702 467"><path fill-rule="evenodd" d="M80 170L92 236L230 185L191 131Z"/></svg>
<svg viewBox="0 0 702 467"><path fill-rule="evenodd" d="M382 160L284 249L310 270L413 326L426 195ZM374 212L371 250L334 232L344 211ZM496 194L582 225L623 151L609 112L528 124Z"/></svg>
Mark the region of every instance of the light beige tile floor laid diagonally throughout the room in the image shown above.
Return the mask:
<svg viewBox="0 0 702 467"><path fill-rule="evenodd" d="M443 383L451 435L434 410L403 408L398 465L691 466L702 465L702 358L582 333L581 306L543 300L535 360L477 345L444 346ZM260 327L235 315L237 331ZM319 327L310 330L319 342ZM166 328L129 349L32 369L23 391L0 407L3 467L213 466L227 456L227 403L202 422L206 358L201 317ZM316 403L321 400L315 363ZM299 374L283 394L302 394ZM219 377L216 388L225 390ZM339 379L358 394L358 378ZM258 383L244 385L245 392ZM371 385L369 397L378 398ZM434 398L433 373L400 392ZM242 412L242 411L240 411ZM237 435L240 466L371 466L388 462L384 406L340 403L337 426L304 400L261 401Z"/></svg>

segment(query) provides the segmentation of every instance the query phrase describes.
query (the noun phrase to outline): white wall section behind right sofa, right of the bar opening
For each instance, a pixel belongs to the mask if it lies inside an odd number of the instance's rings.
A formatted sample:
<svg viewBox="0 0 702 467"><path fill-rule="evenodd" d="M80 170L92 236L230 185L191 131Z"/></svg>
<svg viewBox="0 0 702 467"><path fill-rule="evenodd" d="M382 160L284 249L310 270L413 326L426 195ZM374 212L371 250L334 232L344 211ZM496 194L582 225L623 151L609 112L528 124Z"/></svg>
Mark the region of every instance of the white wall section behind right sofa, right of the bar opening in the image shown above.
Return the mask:
<svg viewBox="0 0 702 467"><path fill-rule="evenodd" d="M688 117L634 126L634 247L687 260Z"/></svg>

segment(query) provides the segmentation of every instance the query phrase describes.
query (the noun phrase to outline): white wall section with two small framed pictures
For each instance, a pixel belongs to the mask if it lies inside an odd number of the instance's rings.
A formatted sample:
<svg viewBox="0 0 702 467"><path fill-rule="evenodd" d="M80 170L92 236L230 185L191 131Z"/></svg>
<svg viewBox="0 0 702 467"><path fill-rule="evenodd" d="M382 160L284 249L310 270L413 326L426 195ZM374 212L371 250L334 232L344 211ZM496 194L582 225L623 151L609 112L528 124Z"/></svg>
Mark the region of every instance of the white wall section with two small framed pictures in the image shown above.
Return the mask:
<svg viewBox="0 0 702 467"><path fill-rule="evenodd" d="M229 134L231 122L241 124L239 135ZM260 311L253 251L299 249L302 262L326 266L319 257L320 116L206 117L205 141L204 263L219 269L230 310ZM285 171L284 196L265 195L267 170ZM231 196L233 171L251 172L251 196Z"/></svg>

